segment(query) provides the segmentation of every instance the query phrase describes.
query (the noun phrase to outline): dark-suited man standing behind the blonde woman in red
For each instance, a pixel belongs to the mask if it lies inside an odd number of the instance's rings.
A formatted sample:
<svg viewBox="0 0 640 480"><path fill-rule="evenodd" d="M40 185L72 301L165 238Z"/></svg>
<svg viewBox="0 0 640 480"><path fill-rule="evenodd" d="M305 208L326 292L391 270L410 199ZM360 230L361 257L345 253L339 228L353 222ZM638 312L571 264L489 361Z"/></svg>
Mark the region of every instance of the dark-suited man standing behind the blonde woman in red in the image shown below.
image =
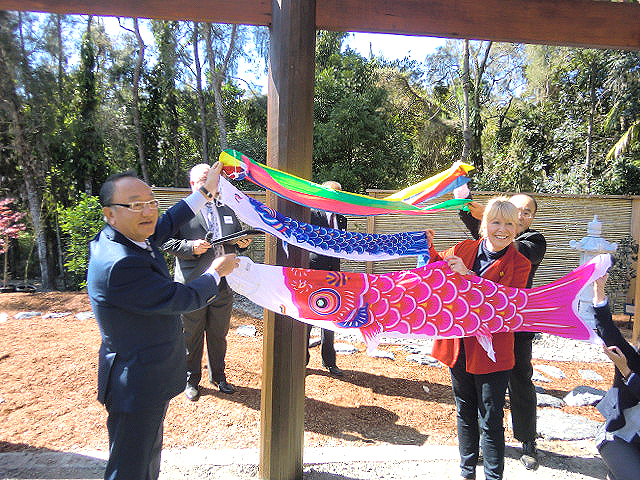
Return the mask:
<svg viewBox="0 0 640 480"><path fill-rule="evenodd" d="M531 224L538 212L538 204L533 197L525 194L514 195L509 201L518 208L515 244L518 251L531 262L531 271L527 280L527 288L531 288L533 276L547 250L547 241L544 235L531 229ZM460 219L469 229L471 235L477 239L484 206L478 202L470 202L467 205L469 212L460 211ZM509 375L509 404L511 406L513 436L522 442L520 461L527 470L538 468L538 452L536 450L538 402L535 386L531 380L534 335L532 332L516 332L514 334L513 347L516 363Z"/></svg>

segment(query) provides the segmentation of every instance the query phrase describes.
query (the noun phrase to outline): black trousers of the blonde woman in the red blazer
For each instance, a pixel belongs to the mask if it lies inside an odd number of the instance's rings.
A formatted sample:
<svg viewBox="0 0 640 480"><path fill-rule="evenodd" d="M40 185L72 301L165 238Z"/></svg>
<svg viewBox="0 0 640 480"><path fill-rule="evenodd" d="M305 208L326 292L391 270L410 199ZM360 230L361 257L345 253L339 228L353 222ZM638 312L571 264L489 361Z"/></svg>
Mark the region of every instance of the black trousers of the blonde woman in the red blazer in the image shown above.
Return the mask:
<svg viewBox="0 0 640 480"><path fill-rule="evenodd" d="M464 478L476 478L482 438L485 478L500 480L504 472L504 396L509 370L482 375L469 373L464 350L450 370L456 402L460 474Z"/></svg>

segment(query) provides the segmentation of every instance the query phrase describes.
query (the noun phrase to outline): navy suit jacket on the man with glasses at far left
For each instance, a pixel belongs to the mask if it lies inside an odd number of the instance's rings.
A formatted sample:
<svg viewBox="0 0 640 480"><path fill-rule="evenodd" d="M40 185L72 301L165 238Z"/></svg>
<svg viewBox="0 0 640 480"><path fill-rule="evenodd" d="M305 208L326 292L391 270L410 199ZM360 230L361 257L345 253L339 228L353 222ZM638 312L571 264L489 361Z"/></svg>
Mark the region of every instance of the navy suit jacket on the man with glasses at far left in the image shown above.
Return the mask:
<svg viewBox="0 0 640 480"><path fill-rule="evenodd" d="M87 290L102 335L98 400L109 411L159 405L184 390L179 314L202 307L218 288L209 274L186 285L172 281L155 245L192 217L183 201L162 215L149 237L153 256L109 225L90 243Z"/></svg>

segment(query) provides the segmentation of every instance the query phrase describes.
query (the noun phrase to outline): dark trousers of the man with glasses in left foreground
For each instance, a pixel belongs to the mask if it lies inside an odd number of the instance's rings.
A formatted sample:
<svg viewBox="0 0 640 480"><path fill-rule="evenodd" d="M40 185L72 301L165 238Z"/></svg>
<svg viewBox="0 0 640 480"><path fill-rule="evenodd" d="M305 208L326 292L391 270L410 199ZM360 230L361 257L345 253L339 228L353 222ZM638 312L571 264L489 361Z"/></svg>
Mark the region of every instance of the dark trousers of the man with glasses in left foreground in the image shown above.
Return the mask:
<svg viewBox="0 0 640 480"><path fill-rule="evenodd" d="M105 480L157 480L168 405L167 401L136 412L109 412Z"/></svg>

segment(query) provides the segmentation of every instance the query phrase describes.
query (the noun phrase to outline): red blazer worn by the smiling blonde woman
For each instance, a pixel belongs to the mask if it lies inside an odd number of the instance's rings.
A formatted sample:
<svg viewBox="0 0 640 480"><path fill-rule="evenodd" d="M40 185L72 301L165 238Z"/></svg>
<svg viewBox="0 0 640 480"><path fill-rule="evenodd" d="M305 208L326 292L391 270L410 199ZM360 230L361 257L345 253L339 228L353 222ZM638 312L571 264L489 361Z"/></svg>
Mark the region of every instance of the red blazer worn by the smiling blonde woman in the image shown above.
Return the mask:
<svg viewBox="0 0 640 480"><path fill-rule="evenodd" d="M464 240L444 252L431 250L431 261L443 260L451 255L462 258L467 268L473 268L478 249L479 240ZM484 273L483 278L508 287L525 288L531 262L516 250L511 244L505 254L496 260ZM475 337L452 338L436 340L433 343L432 355L445 365L453 367L460 354L460 341L464 342L464 351L467 362L467 372L483 374L510 370L513 368L515 358L513 355L513 333L496 333L493 337L493 348L496 352L494 362L487 356L484 348L480 346Z"/></svg>

